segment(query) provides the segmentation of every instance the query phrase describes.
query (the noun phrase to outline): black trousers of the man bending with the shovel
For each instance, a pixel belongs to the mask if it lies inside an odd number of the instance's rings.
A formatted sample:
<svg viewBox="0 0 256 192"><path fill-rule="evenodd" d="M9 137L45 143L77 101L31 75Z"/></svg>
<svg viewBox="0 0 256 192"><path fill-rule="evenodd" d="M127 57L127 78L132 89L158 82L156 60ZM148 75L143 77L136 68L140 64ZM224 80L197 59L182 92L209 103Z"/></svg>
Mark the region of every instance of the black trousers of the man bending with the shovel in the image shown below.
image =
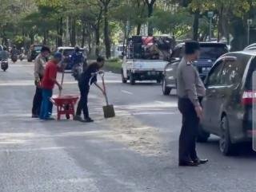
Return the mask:
<svg viewBox="0 0 256 192"><path fill-rule="evenodd" d="M80 90L80 100L78 102L78 108L76 115L81 116L82 112L85 116L85 119L89 117L89 110L88 110L88 94L90 88L86 87L84 84L78 84Z"/></svg>

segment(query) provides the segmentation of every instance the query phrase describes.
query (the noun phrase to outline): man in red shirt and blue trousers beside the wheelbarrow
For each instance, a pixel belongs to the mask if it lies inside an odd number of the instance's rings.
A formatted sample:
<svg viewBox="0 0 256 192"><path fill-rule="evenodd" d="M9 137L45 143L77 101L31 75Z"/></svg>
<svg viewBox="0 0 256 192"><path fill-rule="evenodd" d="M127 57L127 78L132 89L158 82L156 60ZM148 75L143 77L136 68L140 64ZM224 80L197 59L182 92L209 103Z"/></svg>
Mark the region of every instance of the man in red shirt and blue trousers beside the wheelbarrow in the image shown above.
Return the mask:
<svg viewBox="0 0 256 192"><path fill-rule="evenodd" d="M56 80L58 72L58 63L62 61L62 53L54 53L53 59L46 63L46 69L42 78L42 105L40 111L41 120L54 120L51 118L53 104L50 98L53 96L54 85L57 84L59 90L62 85Z"/></svg>

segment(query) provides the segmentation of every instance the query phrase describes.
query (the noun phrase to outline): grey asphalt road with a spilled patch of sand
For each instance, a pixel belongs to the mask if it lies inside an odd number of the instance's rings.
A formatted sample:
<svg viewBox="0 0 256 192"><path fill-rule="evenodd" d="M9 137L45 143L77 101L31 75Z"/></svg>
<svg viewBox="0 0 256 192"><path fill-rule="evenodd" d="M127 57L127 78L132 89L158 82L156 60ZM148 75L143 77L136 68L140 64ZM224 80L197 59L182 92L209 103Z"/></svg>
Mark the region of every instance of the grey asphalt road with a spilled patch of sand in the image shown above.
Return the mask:
<svg viewBox="0 0 256 192"><path fill-rule="evenodd" d="M256 155L243 148L239 156L224 157L217 137L198 144L198 154L209 163L178 167L181 116L175 92L162 96L159 84L131 86L120 79L106 73L114 119L103 119L104 100L91 88L94 123L43 122L30 118L33 65L18 62L0 72L0 191L256 191ZM63 93L78 93L70 74Z"/></svg>

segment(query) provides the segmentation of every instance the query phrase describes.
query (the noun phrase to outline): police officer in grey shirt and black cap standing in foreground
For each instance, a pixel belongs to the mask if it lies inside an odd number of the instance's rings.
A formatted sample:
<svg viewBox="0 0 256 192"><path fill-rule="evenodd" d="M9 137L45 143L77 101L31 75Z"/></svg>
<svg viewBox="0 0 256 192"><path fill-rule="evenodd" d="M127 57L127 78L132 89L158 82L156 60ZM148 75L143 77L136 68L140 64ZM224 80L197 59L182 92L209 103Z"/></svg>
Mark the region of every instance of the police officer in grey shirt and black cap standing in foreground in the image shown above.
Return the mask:
<svg viewBox="0 0 256 192"><path fill-rule="evenodd" d="M200 45L197 41L186 41L185 56L178 65L178 109L182 113L182 131L179 137L179 166L198 166L208 162L199 159L196 139L199 122L202 119L202 97L206 88L193 62L198 60Z"/></svg>

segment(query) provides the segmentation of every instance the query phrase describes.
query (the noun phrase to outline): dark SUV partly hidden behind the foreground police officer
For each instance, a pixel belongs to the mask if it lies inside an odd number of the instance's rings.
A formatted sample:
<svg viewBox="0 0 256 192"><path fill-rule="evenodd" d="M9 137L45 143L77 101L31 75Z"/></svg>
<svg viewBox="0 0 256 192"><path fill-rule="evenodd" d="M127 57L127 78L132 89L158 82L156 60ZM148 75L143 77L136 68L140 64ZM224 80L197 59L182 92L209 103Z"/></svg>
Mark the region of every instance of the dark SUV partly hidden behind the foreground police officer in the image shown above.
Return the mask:
<svg viewBox="0 0 256 192"><path fill-rule="evenodd" d="M228 48L224 43L200 42L201 56L198 61L194 62L202 80L204 80L210 71L214 61L218 57L228 52ZM185 43L176 45L170 57L170 62L166 65L163 72L162 92L169 95L173 88L177 88L177 69L178 64L182 60Z"/></svg>

